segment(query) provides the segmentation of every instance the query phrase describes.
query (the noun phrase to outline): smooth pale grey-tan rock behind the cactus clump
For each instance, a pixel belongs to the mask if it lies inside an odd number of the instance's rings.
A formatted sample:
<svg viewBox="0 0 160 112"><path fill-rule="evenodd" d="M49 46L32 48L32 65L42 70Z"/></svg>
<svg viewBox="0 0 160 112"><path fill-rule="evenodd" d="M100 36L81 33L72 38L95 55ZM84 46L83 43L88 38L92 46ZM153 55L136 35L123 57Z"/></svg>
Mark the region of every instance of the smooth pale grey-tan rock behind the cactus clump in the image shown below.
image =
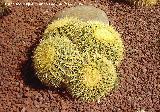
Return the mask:
<svg viewBox="0 0 160 112"><path fill-rule="evenodd" d="M104 11L93 6L76 6L71 8L65 8L58 12L53 19L64 18L64 17L77 17L83 21L96 20L101 21L109 25L109 20Z"/></svg>

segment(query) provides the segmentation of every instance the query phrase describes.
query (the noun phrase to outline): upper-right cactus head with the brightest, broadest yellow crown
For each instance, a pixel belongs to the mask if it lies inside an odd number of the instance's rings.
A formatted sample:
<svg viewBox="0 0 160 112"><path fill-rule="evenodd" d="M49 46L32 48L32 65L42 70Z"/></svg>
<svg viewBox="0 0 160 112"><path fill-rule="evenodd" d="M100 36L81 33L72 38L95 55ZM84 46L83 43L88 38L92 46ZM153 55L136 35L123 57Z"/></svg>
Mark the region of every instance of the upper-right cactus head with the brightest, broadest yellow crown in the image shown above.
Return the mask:
<svg viewBox="0 0 160 112"><path fill-rule="evenodd" d="M92 53L97 51L108 60L119 66L123 59L124 45L120 34L112 27L101 22L90 21L93 36L88 38L86 43L90 44Z"/></svg>

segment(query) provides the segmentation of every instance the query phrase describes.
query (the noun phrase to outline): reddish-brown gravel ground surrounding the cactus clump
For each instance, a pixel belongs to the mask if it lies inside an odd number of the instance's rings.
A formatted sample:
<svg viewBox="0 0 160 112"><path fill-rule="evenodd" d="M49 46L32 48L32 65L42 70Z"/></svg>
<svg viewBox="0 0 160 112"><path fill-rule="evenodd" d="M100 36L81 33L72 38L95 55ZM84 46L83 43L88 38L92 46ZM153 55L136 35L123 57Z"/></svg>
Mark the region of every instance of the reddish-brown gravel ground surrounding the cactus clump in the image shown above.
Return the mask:
<svg viewBox="0 0 160 112"><path fill-rule="evenodd" d="M0 19L0 112L160 112L160 4L136 8L105 0L65 1L70 6L54 1L13 0L57 4L11 5L12 12ZM78 3L104 10L125 44L120 84L100 103L80 102L63 90L46 88L31 67L31 51L54 14Z"/></svg>

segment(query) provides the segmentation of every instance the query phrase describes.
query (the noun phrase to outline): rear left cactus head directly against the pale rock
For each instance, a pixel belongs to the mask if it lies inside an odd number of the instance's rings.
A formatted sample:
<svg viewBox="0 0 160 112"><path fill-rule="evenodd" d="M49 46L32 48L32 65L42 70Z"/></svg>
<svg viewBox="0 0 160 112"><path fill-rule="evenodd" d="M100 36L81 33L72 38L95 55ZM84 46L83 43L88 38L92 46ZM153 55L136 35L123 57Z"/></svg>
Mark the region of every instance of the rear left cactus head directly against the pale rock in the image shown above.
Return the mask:
<svg viewBox="0 0 160 112"><path fill-rule="evenodd" d="M68 18L58 19L53 21L51 24L47 26L47 29L44 31L43 38L48 38L48 34L52 35L63 35L68 38L80 37L82 35L82 29L87 24L82 22L78 18ZM75 38L74 38L75 39Z"/></svg>

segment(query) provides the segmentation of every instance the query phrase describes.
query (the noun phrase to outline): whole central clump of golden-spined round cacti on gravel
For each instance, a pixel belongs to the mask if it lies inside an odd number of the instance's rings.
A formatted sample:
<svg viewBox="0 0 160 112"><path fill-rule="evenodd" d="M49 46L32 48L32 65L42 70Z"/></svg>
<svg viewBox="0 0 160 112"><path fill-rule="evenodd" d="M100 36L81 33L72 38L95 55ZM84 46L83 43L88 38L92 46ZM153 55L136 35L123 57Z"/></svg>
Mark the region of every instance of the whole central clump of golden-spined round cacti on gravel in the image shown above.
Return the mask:
<svg viewBox="0 0 160 112"><path fill-rule="evenodd" d="M117 83L123 50L120 34L112 26L65 17L48 25L33 62L42 83L65 85L73 97L94 101Z"/></svg>

